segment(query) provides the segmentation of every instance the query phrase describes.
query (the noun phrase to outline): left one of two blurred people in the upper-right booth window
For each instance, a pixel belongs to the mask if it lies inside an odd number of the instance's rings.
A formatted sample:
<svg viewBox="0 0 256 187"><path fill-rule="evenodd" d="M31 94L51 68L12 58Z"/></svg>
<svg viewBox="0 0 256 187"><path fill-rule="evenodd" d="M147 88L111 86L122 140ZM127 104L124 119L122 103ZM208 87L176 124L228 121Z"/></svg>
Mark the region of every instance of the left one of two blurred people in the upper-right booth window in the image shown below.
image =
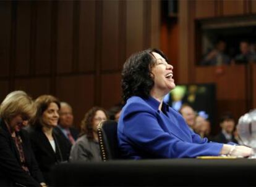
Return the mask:
<svg viewBox="0 0 256 187"><path fill-rule="evenodd" d="M202 60L202 65L225 65L230 63L230 58L224 53L226 42L220 40L216 43L215 49L211 50Z"/></svg>

